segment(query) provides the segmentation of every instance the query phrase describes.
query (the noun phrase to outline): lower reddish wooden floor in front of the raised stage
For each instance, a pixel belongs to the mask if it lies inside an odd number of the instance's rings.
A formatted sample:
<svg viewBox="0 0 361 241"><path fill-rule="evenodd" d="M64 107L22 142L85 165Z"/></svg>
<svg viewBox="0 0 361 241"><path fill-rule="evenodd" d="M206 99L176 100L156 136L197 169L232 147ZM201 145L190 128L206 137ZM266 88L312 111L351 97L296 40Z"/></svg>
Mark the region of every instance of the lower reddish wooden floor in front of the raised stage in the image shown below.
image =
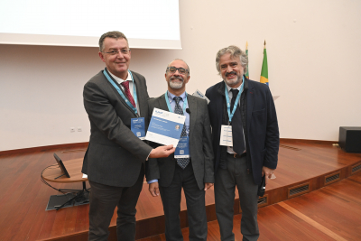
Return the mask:
<svg viewBox="0 0 361 241"><path fill-rule="evenodd" d="M361 240L361 171L327 187L258 210L259 241ZM235 215L233 232L242 240ZM189 241L189 228L183 228ZM219 241L218 221L208 222L208 241ZM164 234L138 241L165 241Z"/></svg>

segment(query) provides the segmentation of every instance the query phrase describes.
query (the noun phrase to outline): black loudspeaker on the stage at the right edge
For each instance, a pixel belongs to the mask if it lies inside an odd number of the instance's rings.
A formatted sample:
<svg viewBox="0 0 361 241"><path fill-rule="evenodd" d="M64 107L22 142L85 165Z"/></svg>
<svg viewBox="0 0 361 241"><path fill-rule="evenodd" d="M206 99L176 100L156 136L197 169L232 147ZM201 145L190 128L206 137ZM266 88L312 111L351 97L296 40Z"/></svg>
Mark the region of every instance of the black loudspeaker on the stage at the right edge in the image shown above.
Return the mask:
<svg viewBox="0 0 361 241"><path fill-rule="evenodd" d="M361 127L339 127L338 145L347 153L361 153Z"/></svg>

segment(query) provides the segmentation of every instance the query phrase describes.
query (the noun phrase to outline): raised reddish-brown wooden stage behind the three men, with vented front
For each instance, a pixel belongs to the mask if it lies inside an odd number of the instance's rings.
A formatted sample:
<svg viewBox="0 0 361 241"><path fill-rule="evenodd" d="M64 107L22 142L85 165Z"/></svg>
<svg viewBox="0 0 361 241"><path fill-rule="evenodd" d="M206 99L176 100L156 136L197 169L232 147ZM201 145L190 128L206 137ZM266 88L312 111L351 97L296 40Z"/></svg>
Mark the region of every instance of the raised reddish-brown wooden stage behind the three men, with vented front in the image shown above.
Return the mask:
<svg viewBox="0 0 361 241"><path fill-rule="evenodd" d="M44 185L40 178L44 168L56 164L53 153L66 162L82 157L86 146L47 149L0 153L1 240L87 240L88 205L45 211L50 196L58 192ZM360 170L361 153L345 153L333 142L282 139L279 164L274 171L276 179L266 186L265 195L259 200L259 208L279 203L283 209L287 209L287 202L282 201L325 186L338 185L338 181ZM81 189L80 183L51 185L58 189ZM361 200L358 199L358 202L361 203ZM213 189L206 192L206 205L209 229L214 223L212 221L217 219ZM241 213L237 195L234 207L235 214ZM261 214L262 209L259 210L260 229L264 219ZM181 226L188 227L184 195L180 218ZM162 201L160 197L150 195L146 183L138 201L136 219L137 239L164 232ZM109 230L109 240L114 240L116 216L112 218Z"/></svg>

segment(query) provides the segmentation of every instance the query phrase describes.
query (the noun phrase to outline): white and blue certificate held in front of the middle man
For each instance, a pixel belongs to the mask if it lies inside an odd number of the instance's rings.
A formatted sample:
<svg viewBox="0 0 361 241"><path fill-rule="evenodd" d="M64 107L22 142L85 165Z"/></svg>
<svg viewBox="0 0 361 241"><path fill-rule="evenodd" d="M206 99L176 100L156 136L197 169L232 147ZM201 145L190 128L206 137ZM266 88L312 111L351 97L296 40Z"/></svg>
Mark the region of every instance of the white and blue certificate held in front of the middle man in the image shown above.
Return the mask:
<svg viewBox="0 0 361 241"><path fill-rule="evenodd" d="M185 120L186 116L154 108L145 140L157 144L172 144L176 147L180 140Z"/></svg>

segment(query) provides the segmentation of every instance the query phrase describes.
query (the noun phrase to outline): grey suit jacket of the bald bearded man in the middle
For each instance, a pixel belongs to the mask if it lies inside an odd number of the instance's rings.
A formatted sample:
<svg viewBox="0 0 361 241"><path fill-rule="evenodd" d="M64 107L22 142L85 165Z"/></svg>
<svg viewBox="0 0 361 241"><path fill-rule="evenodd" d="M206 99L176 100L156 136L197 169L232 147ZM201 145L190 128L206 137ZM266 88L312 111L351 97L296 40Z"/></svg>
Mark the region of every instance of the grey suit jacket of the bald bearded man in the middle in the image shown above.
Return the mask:
<svg viewBox="0 0 361 241"><path fill-rule="evenodd" d="M167 110L165 102L166 95L150 99L149 119L152 116L153 108ZM208 116L207 101L188 95L188 106L190 108L190 160L194 176L199 190L204 189L204 182L214 183L214 161L211 144L210 123ZM159 144L154 144L155 146ZM155 147L154 146L154 147ZM146 162L145 176L147 181L158 179L159 185L168 187L173 180L177 161L174 154L167 158L150 159Z"/></svg>

